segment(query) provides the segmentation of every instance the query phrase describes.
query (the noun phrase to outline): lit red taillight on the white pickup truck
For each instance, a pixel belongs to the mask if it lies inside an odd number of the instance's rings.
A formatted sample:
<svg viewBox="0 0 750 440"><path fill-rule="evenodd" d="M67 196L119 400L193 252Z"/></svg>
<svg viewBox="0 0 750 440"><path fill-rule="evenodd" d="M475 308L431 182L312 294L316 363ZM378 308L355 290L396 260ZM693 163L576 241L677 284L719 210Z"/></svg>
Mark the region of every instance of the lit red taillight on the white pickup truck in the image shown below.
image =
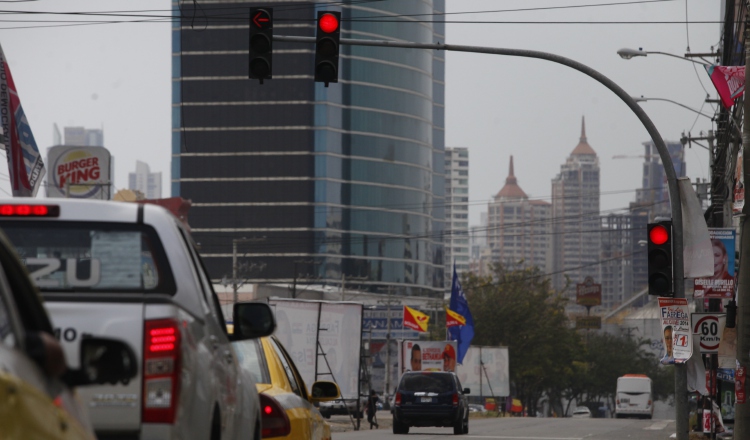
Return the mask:
<svg viewBox="0 0 750 440"><path fill-rule="evenodd" d="M179 392L180 328L173 319L155 319L143 329L144 423L174 423Z"/></svg>

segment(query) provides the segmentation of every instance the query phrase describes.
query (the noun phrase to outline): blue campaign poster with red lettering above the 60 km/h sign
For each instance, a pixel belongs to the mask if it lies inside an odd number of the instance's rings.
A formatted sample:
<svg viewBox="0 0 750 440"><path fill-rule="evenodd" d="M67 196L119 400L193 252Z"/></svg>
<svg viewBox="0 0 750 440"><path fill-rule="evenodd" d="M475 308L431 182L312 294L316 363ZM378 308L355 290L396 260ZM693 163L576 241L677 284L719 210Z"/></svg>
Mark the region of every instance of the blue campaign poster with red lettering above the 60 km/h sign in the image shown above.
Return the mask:
<svg viewBox="0 0 750 440"><path fill-rule="evenodd" d="M709 228L714 256L714 274L710 278L696 278L695 298L732 298L734 296L734 229Z"/></svg>

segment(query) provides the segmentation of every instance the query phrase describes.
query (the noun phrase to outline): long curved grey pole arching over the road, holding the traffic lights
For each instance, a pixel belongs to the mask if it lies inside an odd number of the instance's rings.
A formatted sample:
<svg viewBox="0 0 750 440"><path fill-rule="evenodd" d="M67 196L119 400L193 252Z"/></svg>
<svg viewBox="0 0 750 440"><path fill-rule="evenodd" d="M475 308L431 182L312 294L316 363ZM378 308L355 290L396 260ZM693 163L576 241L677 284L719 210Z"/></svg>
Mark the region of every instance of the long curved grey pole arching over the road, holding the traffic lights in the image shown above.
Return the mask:
<svg viewBox="0 0 750 440"><path fill-rule="evenodd" d="M281 36L274 35L274 41L289 42L289 43L312 43L315 44L315 38L313 37L292 37L292 36ZM683 234L682 234L682 203L680 201L680 192L677 187L677 176L675 175L674 165L672 164L672 158L669 155L667 146L664 144L659 131L654 126L654 123L646 115L646 112L638 105L638 103L630 97L620 86L615 82L597 72L596 70L581 64L577 61L573 61L569 58L565 58L559 55L554 55L546 52L538 52L533 50L522 50L522 49L502 49L494 47L482 47L482 46L459 46L453 44L440 44L440 43L410 43L401 41L385 41L385 40L358 40L351 38L342 38L340 44L351 45L351 46L379 46L379 47L400 47L407 49L430 49L430 50L444 50L454 52L472 52L472 53L484 53L489 55L504 55L524 58L536 58L541 60L552 61L553 63L562 64L568 66L579 72L590 76L591 78L604 85L606 88L611 90L615 95L625 102L630 107L630 110L635 113L638 119L641 121L643 126L648 131L649 136L656 146L656 150L659 152L659 157L664 165L664 173L667 177L667 186L669 188L669 198L671 201L672 209L672 222L673 222L673 262L672 267L674 269L675 276L675 297L685 297L685 282L684 282L684 261L683 261ZM687 395L687 369L685 364L675 365L675 418L677 428L677 439L688 440L688 395Z"/></svg>

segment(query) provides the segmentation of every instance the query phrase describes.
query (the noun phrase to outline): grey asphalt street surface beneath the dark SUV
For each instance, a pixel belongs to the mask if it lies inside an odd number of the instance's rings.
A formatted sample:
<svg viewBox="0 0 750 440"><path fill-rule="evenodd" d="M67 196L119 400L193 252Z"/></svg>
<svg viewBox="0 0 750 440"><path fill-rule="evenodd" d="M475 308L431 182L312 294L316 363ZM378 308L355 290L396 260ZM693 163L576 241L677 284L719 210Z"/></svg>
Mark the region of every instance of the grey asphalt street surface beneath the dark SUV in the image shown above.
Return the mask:
<svg viewBox="0 0 750 440"><path fill-rule="evenodd" d="M381 420L385 420L385 417ZM386 425L388 427L386 427ZM365 425L363 424L363 428ZM666 440L675 432L674 420L654 419L573 419L506 417L471 419L466 439L498 440ZM335 433L336 440L379 439L384 435L403 437L391 433L390 420L381 423L380 429L363 429ZM408 438L433 439L453 436L450 428L411 428Z"/></svg>

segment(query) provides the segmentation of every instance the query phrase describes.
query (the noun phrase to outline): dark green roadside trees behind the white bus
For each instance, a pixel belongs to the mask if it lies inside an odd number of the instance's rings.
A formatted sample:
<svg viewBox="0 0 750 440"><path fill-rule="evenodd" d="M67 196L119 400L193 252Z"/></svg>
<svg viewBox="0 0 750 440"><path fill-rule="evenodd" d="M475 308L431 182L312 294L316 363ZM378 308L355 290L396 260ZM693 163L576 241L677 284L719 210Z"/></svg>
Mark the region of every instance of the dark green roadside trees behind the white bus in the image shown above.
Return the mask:
<svg viewBox="0 0 750 440"><path fill-rule="evenodd" d="M537 268L506 270L491 277L464 276L474 317L472 345L506 346L514 396L534 415L546 395L614 405L617 378L646 374L655 399L674 393L673 369L662 367L644 347L649 341L576 331L565 314L567 299Z"/></svg>

